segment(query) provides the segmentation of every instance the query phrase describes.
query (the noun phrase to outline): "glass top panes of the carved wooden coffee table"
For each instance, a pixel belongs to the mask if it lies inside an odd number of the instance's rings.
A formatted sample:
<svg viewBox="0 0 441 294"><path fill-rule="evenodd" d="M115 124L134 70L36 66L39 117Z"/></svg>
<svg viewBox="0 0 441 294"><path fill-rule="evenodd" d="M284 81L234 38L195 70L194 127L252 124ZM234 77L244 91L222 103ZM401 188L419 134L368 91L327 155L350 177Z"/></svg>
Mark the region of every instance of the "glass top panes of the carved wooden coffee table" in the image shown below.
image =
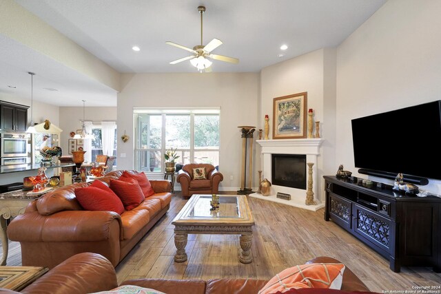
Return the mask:
<svg viewBox="0 0 441 294"><path fill-rule="evenodd" d="M201 195L194 206L188 210L187 218L240 218L238 198L234 196L219 196L219 208L212 209L210 201L212 196Z"/></svg>

